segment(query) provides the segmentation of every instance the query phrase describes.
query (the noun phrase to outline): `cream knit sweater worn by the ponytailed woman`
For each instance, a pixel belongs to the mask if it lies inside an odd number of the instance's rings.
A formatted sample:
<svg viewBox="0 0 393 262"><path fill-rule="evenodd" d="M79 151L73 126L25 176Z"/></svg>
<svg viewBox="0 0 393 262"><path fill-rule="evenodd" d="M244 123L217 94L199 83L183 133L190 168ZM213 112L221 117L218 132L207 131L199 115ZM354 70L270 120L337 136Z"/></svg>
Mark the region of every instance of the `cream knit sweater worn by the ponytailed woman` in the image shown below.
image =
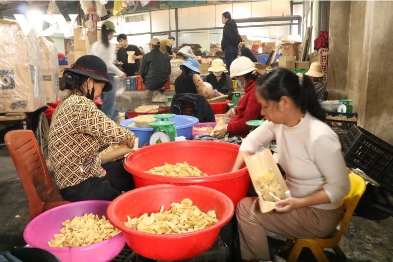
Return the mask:
<svg viewBox="0 0 393 262"><path fill-rule="evenodd" d="M338 137L327 124L309 113L294 127L266 121L243 140L240 151L255 152L273 139L293 197L324 188L330 203L315 208L332 210L342 205L350 187L348 172Z"/></svg>

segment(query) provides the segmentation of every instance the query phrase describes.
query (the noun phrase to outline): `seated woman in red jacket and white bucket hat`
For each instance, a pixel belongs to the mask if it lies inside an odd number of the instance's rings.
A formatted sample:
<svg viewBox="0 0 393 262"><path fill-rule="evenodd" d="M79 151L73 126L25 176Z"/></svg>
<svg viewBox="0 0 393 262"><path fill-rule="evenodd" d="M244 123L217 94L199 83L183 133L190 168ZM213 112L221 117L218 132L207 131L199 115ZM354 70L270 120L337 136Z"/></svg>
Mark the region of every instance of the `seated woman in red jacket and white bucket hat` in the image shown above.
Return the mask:
<svg viewBox="0 0 393 262"><path fill-rule="evenodd" d="M239 100L237 107L225 113L225 117L230 120L224 128L215 130L213 136L196 135L193 140L221 141L240 145L242 139L251 131L251 127L246 122L262 119L261 105L255 97L256 80L261 74L255 68L255 64L249 58L240 56L233 60L230 72L231 78L236 77L242 85L245 85L246 94Z"/></svg>

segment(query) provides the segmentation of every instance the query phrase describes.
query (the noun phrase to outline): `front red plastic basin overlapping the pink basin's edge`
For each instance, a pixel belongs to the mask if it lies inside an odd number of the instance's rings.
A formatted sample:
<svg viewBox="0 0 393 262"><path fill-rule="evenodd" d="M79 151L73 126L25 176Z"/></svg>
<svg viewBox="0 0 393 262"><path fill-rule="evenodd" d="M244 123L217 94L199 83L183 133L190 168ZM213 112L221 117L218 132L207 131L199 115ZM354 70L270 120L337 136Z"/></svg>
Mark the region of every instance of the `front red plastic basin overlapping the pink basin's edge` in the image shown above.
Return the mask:
<svg viewBox="0 0 393 262"><path fill-rule="evenodd" d="M124 225L143 213L169 210L172 202L190 198L201 211L215 210L218 222L205 229L182 234L153 234ZM234 206L224 194L201 186L153 185L131 190L117 197L108 207L111 223L123 231L129 247L137 254L159 261L178 261L196 257L215 242L220 228L233 216Z"/></svg>

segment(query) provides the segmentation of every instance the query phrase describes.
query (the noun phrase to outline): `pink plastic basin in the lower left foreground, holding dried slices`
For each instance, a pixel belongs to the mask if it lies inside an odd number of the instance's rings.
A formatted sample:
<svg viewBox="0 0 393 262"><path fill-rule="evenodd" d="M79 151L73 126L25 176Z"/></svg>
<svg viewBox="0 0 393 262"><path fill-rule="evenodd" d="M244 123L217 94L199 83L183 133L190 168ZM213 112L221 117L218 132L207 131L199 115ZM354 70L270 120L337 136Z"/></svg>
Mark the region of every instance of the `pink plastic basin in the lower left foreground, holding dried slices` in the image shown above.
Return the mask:
<svg viewBox="0 0 393 262"><path fill-rule="evenodd" d="M27 244L35 248L44 249L62 262L108 262L115 258L124 248L126 240L123 233L102 242L72 248L52 248L48 242L54 234L59 234L63 227L62 222L72 219L75 215L82 216L85 213L97 214L100 217L107 215L107 209L111 202L104 200L90 200L66 204L45 211L31 220L24 232L23 238Z"/></svg>

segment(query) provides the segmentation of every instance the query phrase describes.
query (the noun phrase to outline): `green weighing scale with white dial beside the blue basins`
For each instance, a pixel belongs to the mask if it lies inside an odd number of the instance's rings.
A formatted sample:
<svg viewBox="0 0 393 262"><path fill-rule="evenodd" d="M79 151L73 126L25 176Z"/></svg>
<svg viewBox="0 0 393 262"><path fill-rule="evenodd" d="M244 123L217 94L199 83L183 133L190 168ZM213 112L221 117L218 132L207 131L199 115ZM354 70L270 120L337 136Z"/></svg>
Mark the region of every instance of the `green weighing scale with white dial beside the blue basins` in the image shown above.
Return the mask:
<svg viewBox="0 0 393 262"><path fill-rule="evenodd" d="M149 144L159 144L170 141L175 141L177 130L174 121L169 121L169 118L174 117L175 114L156 114L155 118L161 121L151 122L149 125L153 127L153 134L150 136Z"/></svg>

